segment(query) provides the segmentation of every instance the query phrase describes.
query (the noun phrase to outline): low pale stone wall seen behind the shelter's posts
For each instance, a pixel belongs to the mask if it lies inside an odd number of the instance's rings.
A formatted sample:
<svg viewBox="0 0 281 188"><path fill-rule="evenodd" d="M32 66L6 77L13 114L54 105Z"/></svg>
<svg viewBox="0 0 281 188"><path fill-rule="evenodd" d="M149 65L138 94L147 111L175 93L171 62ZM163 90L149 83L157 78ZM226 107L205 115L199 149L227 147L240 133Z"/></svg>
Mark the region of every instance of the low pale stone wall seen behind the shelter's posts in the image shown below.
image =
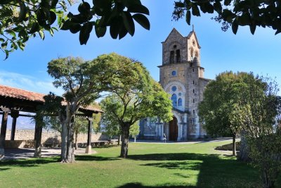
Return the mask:
<svg viewBox="0 0 281 188"><path fill-rule="evenodd" d="M78 143L86 143L87 142L87 134L78 134L77 142ZM11 139L11 130L7 130L6 132L6 140ZM15 140L30 140L34 139L34 130L15 130ZM100 132L94 134L92 133L92 142L98 140L107 140L107 137ZM56 132L53 130L43 131L42 132L42 144L47 142L60 142L60 132Z"/></svg>

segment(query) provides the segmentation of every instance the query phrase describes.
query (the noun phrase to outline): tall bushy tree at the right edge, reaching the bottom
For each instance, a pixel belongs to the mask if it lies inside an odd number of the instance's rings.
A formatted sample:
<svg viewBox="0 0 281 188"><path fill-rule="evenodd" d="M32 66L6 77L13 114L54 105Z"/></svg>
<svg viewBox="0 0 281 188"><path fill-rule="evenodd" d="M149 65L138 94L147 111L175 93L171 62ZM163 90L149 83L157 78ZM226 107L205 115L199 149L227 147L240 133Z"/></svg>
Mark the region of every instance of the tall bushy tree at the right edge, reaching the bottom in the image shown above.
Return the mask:
<svg viewBox="0 0 281 188"><path fill-rule="evenodd" d="M240 125L251 163L261 171L263 187L274 187L281 171L281 100L276 82L256 76L241 89L233 108L233 123Z"/></svg>

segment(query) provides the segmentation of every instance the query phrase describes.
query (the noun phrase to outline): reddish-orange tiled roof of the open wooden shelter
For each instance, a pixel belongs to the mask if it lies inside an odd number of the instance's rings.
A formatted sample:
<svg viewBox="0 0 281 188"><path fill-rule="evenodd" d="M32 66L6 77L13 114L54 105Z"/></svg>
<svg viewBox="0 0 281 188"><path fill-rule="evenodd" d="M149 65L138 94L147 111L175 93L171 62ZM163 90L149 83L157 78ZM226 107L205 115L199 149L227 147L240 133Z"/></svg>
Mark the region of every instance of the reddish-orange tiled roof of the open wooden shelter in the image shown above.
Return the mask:
<svg viewBox="0 0 281 188"><path fill-rule="evenodd" d="M44 103L44 96L46 96L46 94L30 92L30 91L27 91L24 89L8 87L8 86L4 86L4 85L0 84L0 96L10 97L13 99L22 99L25 101L37 101L37 102ZM63 105L66 105L66 103L64 102ZM82 108L84 110L88 110L88 111L103 112L95 106L86 106L86 107L82 107Z"/></svg>

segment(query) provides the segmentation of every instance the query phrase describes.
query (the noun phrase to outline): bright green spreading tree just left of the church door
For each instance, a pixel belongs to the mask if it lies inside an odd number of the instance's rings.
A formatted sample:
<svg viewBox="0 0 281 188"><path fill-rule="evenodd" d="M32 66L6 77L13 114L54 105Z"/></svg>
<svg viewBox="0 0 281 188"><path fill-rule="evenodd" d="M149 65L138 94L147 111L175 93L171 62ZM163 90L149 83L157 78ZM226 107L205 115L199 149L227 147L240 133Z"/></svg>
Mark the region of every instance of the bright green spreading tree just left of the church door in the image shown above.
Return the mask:
<svg viewBox="0 0 281 188"><path fill-rule="evenodd" d="M120 156L128 155L129 129L138 120L159 116L161 120L171 120L171 100L159 83L150 77L148 70L137 61L111 54L113 61L104 61L107 66L115 66L122 77L112 76L109 96L100 102L105 113L110 114L112 122L122 130ZM103 56L103 58L107 58Z"/></svg>

